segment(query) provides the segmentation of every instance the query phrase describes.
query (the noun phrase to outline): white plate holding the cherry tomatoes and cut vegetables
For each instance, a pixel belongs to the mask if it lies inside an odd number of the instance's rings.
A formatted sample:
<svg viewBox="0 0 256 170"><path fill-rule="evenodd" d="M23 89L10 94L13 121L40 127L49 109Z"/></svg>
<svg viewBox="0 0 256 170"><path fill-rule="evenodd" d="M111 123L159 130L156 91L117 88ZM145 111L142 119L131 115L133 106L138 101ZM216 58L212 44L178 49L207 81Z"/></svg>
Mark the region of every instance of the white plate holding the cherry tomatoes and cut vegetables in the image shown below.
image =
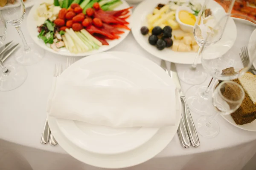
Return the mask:
<svg viewBox="0 0 256 170"><path fill-rule="evenodd" d="M58 54L58 55L71 56L71 57L83 57L83 56L87 56L87 55L93 55L93 54L96 54L96 53L107 51L107 50L113 48L114 46L118 45L119 43L122 42L122 40L125 39L125 37L127 37L127 35L130 32L129 30L126 30L126 29L120 29L124 33L119 35L120 36L119 39L117 39L117 40L107 40L109 45L108 46L105 46L105 45L101 46L97 50L92 50L92 51L89 51L89 52L75 54L75 53L72 53L72 52L68 51L66 48L61 48L59 52L56 52L53 49L51 49L50 47L46 46L43 40L38 38L39 33L38 33L38 30L37 30L37 24L36 24L34 15L36 13L36 9L40 5L40 3L43 2L44 0L38 0L38 1L39 2L36 3L29 12L29 15L28 15L28 18L27 18L27 29L28 29L29 35L32 37L32 39L35 41L35 43L38 46L40 46L41 48L43 48L43 49L45 49L49 52L52 52L52 53L55 53L55 54ZM125 0L122 0L122 5L118 6L114 10L121 10L121 9L126 9L126 8L129 8L129 7L130 6L128 5L128 3L126 3ZM130 9L130 13L131 12L132 12L132 10ZM127 22L131 23L131 17L129 17L127 19ZM131 24L128 24L127 26L130 28Z"/></svg>

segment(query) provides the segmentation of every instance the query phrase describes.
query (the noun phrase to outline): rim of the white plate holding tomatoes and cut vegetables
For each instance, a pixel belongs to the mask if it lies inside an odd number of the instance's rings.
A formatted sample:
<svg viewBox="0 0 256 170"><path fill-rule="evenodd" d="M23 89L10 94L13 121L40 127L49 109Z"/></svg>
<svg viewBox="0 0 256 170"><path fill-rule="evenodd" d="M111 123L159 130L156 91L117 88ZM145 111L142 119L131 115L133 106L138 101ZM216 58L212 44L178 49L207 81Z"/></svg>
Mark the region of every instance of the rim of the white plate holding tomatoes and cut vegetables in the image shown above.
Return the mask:
<svg viewBox="0 0 256 170"><path fill-rule="evenodd" d="M113 47L119 45L123 40L125 40L125 38L129 35L129 33L131 32L131 30L123 30L125 33L123 33L122 35L120 35L120 39L121 40L116 40L116 44L115 45L112 45L112 46L108 46L106 47L105 49L102 49L100 50L99 49L96 49L96 50L92 50L92 51L88 51L88 52L84 52L84 53L78 53L78 54L75 54L75 53L59 53L59 52L56 52L54 51L53 49L47 47L45 44L41 44L39 43L38 41L38 37L34 37L32 36L32 31L34 31L34 29L32 28L31 25L35 25L33 23L35 23L35 19L34 19L34 14L35 14L35 11L36 11L36 8L40 5L40 3L42 3L43 1L45 0L38 0L38 2L34 3L33 4L33 7L30 9L29 11L29 14L27 16L27 22L26 22L26 28L28 29L28 32L29 32L29 36L32 38L33 42L39 46L41 49L44 49L46 50L47 52L51 52L52 54L56 54L56 55L61 55L61 56L68 56L68 57L84 57L84 56L88 56L88 55L94 55L94 54L98 54L98 53L101 53L101 52L105 52L105 51L108 51L110 49L112 49ZM129 8L130 5L125 1L125 0L122 0L122 5L124 5L125 7L124 8ZM132 26L132 14L133 14L133 11L131 9L130 10L130 13L131 13L131 16L128 18L128 26L130 27L131 29L131 26ZM36 27L36 26L35 26Z"/></svg>

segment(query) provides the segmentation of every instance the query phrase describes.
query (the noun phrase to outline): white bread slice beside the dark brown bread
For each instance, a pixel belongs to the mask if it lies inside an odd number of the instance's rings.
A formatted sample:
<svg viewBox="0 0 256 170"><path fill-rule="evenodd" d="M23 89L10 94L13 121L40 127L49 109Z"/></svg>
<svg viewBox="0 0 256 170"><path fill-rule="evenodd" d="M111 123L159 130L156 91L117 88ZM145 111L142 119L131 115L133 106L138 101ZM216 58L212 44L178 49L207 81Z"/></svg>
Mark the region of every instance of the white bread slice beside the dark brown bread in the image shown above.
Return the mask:
<svg viewBox="0 0 256 170"><path fill-rule="evenodd" d="M238 80L249 95L251 101L256 105L256 75L246 72Z"/></svg>

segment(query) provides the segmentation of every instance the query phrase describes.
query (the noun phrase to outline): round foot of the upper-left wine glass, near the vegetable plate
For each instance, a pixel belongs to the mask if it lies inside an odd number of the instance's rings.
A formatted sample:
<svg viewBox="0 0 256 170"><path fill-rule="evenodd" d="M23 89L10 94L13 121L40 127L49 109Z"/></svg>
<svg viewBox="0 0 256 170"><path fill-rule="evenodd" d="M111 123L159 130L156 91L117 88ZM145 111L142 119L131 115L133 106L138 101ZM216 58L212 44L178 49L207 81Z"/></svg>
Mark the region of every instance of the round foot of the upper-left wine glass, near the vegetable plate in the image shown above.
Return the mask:
<svg viewBox="0 0 256 170"><path fill-rule="evenodd" d="M44 57L44 49L38 48L34 43L28 43L30 50L25 51L23 47L17 50L15 59L21 65L33 65Z"/></svg>

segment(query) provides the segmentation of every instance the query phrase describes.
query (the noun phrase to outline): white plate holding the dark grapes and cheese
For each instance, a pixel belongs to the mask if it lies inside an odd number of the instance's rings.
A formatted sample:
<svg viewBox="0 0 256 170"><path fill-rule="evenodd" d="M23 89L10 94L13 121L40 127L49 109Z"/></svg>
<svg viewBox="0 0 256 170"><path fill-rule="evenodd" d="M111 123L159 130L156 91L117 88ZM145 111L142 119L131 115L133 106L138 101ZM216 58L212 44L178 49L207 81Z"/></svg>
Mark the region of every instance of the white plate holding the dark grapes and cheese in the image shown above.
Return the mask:
<svg viewBox="0 0 256 170"><path fill-rule="evenodd" d="M155 46L151 46L148 43L148 36L142 35L140 33L140 28L142 26L147 26L146 16L153 12L154 8L157 6L158 3L166 4L168 3L168 1L169 0L158 0L158 1L145 0L142 3L140 3L134 10L134 13L132 16L131 31L134 35L135 40L140 44L140 46L150 54L156 56L157 58L160 58L165 61L173 62L173 63L192 64L196 57L196 52L175 52L175 51L172 51L172 49L170 48L165 48L160 51ZM204 3L204 0L198 0L197 2L202 4ZM219 5L214 0L210 0L208 5L215 9L212 12L216 16L224 12L224 9L221 7L221 5ZM234 20L229 20L227 23L227 27L224 31L223 37L218 43L216 43L216 45L226 41L234 42L235 40L236 40L236 24ZM212 45L212 46L215 46L215 45ZM201 60L199 60L198 63L201 63Z"/></svg>

